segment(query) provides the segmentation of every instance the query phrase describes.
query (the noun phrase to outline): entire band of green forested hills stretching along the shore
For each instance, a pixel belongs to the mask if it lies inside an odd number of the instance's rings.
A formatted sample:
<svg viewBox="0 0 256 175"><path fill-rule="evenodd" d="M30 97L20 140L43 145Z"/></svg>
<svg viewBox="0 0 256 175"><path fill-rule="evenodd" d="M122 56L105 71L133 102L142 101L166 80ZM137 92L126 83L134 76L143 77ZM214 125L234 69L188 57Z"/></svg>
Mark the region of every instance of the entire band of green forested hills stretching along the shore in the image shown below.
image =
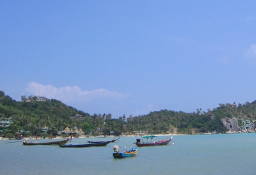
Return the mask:
<svg viewBox="0 0 256 175"><path fill-rule="evenodd" d="M76 117L74 117L76 116ZM220 122L222 118L235 118L241 125L243 119L256 119L256 101L245 104L220 104L217 108L208 111L198 109L194 113L176 112L173 110L160 110L148 115L129 116L123 115L112 119L111 114L89 115L81 110L76 110L58 100L47 100L45 97L21 97L21 102L16 102L3 91L0 91L0 118L12 119L8 127L0 130L16 132L26 130L33 134L40 134L38 128L50 128L48 134L56 135L65 127L83 130L85 135L109 135L110 132L120 134L197 134L203 132L226 132ZM37 128L37 129L35 129ZM2 133L3 134L3 133Z"/></svg>

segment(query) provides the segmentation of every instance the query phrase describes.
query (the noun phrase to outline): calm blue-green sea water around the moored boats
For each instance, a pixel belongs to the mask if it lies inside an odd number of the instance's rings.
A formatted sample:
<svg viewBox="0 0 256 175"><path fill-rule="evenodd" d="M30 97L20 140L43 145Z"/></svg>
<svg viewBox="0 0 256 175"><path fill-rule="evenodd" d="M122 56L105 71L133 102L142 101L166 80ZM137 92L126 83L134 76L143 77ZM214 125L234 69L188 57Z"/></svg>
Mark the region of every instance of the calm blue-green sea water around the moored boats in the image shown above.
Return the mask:
<svg viewBox="0 0 256 175"><path fill-rule="evenodd" d="M73 138L71 143L110 139L114 138ZM139 147L136 156L114 159L114 145L119 150L134 148L136 139L141 137L120 137L105 147L91 148L0 140L0 174L256 174L256 133L173 135L169 145Z"/></svg>

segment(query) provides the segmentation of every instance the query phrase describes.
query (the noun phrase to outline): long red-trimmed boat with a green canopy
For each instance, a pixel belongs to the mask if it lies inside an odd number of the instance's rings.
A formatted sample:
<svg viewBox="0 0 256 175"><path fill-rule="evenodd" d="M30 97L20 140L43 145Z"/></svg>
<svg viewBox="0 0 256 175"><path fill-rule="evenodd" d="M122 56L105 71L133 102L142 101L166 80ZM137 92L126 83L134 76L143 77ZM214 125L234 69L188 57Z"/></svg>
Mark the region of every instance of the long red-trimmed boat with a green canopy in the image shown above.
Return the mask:
<svg viewBox="0 0 256 175"><path fill-rule="evenodd" d="M142 143L140 142L140 139L136 139L136 145L137 146L153 146L153 145L168 145L170 141L173 141L173 137L170 139L164 139L160 141L153 141L154 138L157 136L154 135L146 135L142 137ZM147 141L143 141L143 139L147 139ZM149 141L151 139L151 141Z"/></svg>

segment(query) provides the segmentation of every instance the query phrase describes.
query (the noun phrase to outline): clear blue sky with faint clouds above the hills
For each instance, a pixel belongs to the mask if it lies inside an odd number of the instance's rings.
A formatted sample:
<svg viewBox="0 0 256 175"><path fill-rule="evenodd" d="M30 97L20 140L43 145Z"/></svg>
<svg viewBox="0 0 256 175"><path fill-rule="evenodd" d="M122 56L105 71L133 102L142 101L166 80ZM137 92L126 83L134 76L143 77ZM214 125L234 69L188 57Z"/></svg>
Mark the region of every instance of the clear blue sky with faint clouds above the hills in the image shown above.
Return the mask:
<svg viewBox="0 0 256 175"><path fill-rule="evenodd" d="M0 91L112 118L256 100L255 1L0 1Z"/></svg>

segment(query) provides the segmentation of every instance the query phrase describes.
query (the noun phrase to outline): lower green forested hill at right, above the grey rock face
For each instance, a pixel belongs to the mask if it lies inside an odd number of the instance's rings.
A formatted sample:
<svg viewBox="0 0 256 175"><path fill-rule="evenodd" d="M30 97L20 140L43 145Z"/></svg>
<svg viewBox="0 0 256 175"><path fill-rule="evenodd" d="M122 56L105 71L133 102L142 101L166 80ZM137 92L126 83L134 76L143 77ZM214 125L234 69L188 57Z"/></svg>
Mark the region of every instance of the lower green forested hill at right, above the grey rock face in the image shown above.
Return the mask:
<svg viewBox="0 0 256 175"><path fill-rule="evenodd" d="M244 119L252 123L256 119L256 101L246 104L220 104L219 107L207 112L198 109L194 113L175 112L172 110L161 110L149 113L142 117L134 117L142 124L148 124L158 133L162 130L184 134L196 134L204 132L226 132L226 128L220 122L222 118L235 118L239 126Z"/></svg>

